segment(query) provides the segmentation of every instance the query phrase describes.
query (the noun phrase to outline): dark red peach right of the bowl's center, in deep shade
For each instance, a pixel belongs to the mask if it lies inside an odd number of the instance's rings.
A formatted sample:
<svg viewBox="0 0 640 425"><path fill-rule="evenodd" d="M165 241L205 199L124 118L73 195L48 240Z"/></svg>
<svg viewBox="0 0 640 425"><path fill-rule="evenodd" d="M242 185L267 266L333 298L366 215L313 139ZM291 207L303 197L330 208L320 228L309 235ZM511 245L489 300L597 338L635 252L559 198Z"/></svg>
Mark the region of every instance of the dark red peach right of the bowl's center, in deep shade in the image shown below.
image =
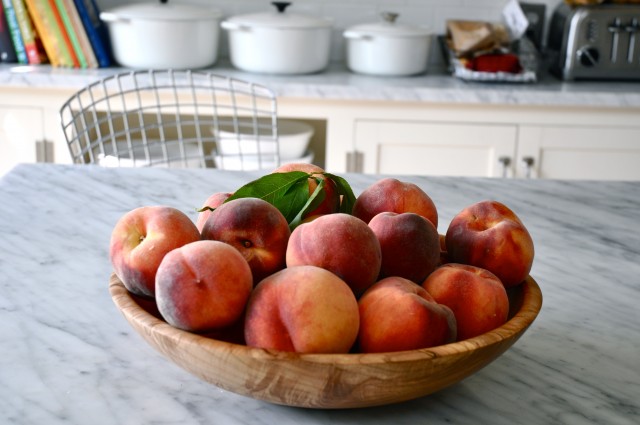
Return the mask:
<svg viewBox="0 0 640 425"><path fill-rule="evenodd" d="M379 279L399 276L420 284L440 261L440 238L430 221L415 213L382 212L369 227L382 249Z"/></svg>

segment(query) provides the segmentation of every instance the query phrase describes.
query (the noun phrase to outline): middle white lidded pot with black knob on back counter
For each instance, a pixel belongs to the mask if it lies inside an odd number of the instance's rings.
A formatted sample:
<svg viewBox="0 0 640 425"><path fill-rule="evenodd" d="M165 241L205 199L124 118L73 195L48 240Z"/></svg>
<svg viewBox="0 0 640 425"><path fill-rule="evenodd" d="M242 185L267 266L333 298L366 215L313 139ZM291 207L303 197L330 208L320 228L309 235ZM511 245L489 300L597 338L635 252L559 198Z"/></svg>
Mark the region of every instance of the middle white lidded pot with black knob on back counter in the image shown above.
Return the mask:
<svg viewBox="0 0 640 425"><path fill-rule="evenodd" d="M221 23L229 32L229 56L238 69L270 74L308 74L329 64L331 21L278 10L230 17Z"/></svg>

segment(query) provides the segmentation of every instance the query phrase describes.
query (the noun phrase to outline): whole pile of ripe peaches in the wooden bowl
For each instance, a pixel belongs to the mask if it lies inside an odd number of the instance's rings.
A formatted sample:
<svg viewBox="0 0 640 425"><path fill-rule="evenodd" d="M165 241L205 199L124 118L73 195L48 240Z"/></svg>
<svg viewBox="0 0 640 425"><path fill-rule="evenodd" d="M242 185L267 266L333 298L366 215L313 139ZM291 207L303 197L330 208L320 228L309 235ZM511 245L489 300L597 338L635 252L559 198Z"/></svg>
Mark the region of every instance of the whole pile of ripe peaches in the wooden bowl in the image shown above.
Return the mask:
<svg viewBox="0 0 640 425"><path fill-rule="evenodd" d="M115 273L172 326L275 350L413 350L506 322L507 288L529 274L534 248L505 205L470 205L439 235L415 184L381 179L344 212L331 175L308 164L275 172L291 171L309 173L310 194L323 190L293 229L273 203L230 193L207 199L197 223L141 207L113 229Z"/></svg>

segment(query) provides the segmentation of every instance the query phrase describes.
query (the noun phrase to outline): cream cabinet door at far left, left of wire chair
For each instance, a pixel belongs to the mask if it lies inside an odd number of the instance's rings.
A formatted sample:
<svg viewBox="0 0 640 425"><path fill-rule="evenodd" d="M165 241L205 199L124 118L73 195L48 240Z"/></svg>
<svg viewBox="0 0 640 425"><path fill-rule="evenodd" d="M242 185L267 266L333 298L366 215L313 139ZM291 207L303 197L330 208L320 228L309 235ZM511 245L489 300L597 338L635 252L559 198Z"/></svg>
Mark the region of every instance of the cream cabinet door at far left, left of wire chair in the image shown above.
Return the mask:
<svg viewBox="0 0 640 425"><path fill-rule="evenodd" d="M0 106L0 175L18 163L38 160L42 122L43 113L38 108Z"/></svg>

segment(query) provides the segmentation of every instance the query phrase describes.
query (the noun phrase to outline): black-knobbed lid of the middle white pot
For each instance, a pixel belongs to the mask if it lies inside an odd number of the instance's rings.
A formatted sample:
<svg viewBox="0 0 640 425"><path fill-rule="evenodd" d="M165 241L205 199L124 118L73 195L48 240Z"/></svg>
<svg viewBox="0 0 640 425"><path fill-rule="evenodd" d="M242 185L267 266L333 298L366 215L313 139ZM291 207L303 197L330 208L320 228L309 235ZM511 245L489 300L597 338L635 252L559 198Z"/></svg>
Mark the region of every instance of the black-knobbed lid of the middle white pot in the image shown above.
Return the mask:
<svg viewBox="0 0 640 425"><path fill-rule="evenodd" d="M285 11L290 3L272 2L272 4L275 8L270 12L232 16L227 21L248 27L279 29L327 28L332 24L331 20L327 18Z"/></svg>

